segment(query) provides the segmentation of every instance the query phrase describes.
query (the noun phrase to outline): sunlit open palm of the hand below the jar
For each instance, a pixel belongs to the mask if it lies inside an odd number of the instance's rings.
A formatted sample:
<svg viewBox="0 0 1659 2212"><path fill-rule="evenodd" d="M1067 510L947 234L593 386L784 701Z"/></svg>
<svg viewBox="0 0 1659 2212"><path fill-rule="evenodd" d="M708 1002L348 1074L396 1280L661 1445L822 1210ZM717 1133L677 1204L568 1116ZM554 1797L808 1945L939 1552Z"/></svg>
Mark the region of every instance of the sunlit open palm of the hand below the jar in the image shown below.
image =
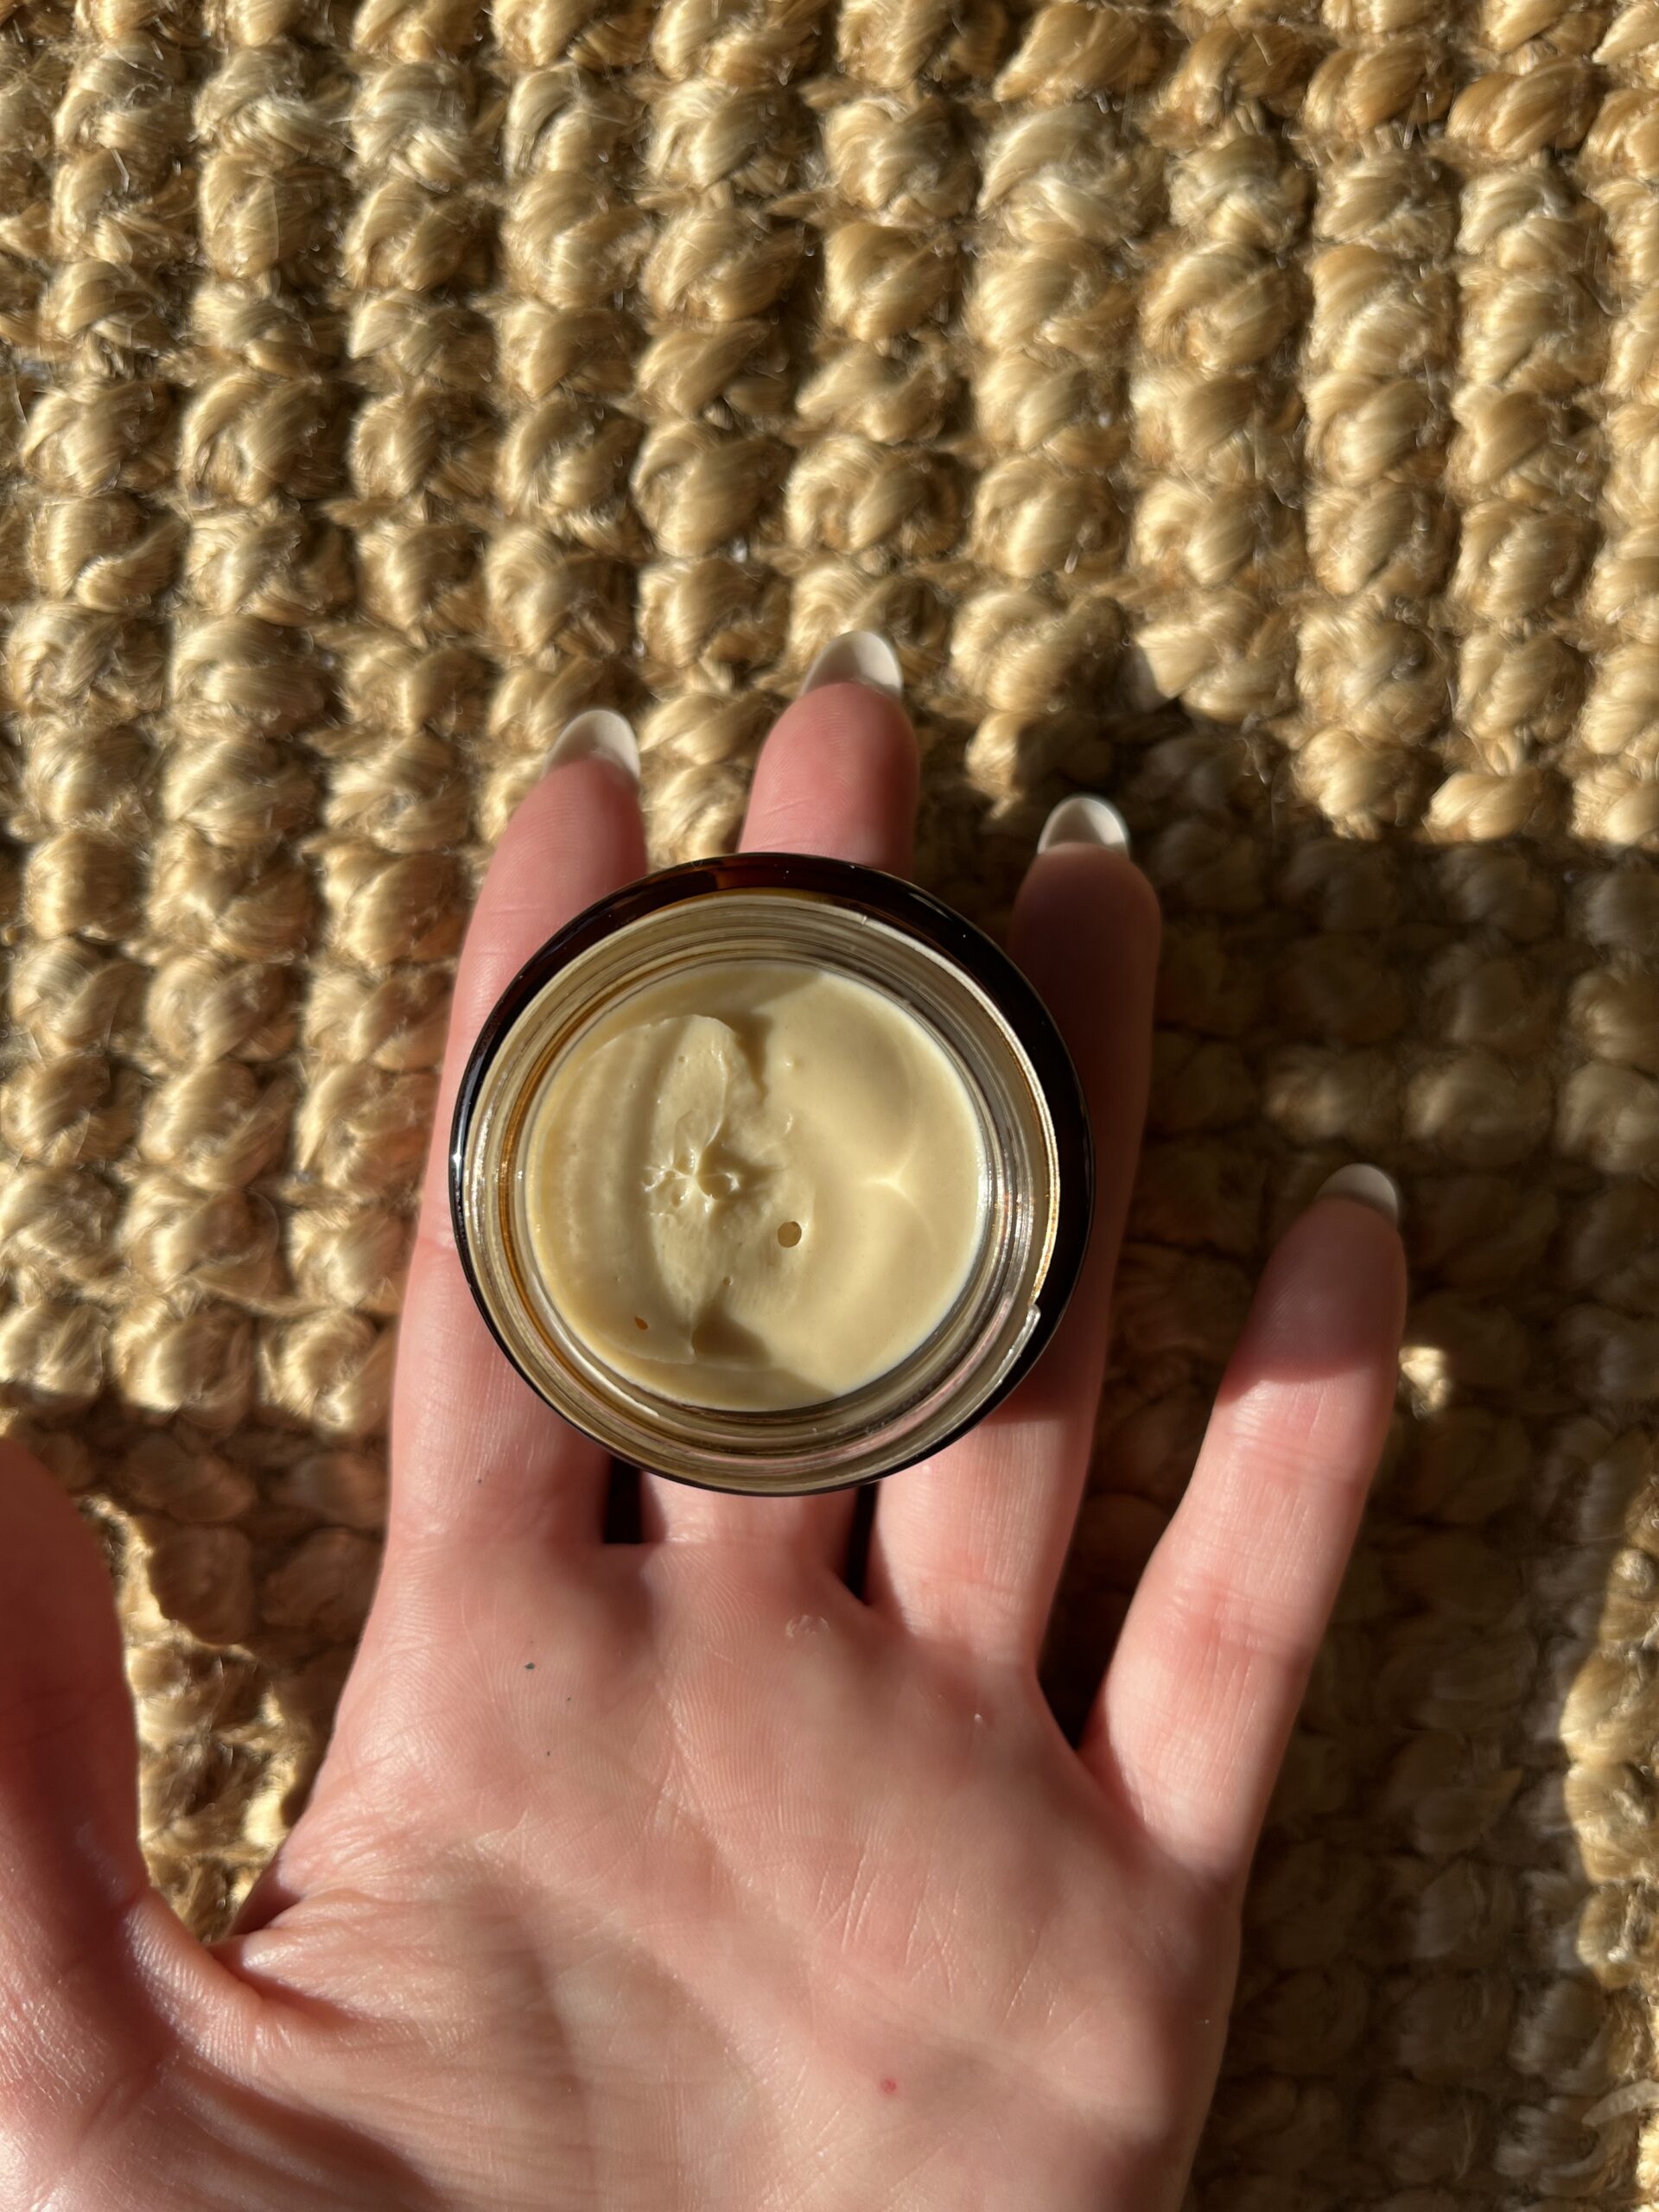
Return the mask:
<svg viewBox="0 0 1659 2212"><path fill-rule="evenodd" d="M400 2201L420 2174L456 2208L668 2212L714 2170L737 2205L876 2205L896 2174L916 2208L995 2203L987 2174L1044 2208L1095 2208L1106 2177L1155 2203L1148 2168L1186 2146L1137 2115L1214 2062L1223 1916L1022 1674L830 1577L646 1584L575 1630L498 1593L418 1739L387 1666L374 1728L398 1750L372 1770L347 1717L305 1896L226 1949L265 2008L221 2132L246 2088L325 2117L323 2172L292 2177L310 2203L376 2203L396 2172ZM170 2101L144 2112L164 2150ZM254 2203L272 2143L215 2163L184 2201ZM115 2132L102 2201L131 2172Z"/></svg>

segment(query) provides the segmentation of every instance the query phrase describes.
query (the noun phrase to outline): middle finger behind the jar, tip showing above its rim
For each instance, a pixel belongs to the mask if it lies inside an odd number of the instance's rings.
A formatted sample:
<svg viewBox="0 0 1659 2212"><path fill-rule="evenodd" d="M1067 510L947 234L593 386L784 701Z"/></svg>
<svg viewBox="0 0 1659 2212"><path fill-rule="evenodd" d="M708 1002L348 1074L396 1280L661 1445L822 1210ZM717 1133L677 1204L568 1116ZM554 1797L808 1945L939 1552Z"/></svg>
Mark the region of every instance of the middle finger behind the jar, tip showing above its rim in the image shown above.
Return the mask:
<svg viewBox="0 0 1659 2212"><path fill-rule="evenodd" d="M869 646L887 655L896 681L891 648L880 639L869 639L867 653ZM878 659L867 657L863 668L887 675ZM787 708L761 748L743 847L812 852L905 874L916 832L916 739L896 697L869 681L816 684ZM768 1564L805 1559L838 1571L847 1553L852 1498L849 1491L827 1498L726 1498L650 1478L641 1515L648 1537L741 1544Z"/></svg>

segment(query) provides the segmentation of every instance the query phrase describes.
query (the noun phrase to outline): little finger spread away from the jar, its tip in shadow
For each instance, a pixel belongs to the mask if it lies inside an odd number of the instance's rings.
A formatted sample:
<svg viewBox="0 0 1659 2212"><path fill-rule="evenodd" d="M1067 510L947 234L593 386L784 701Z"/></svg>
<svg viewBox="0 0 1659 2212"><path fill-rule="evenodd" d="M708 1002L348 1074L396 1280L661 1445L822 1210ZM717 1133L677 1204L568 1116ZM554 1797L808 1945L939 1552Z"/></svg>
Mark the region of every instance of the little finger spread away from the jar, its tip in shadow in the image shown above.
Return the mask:
<svg viewBox="0 0 1659 2212"><path fill-rule="evenodd" d="M1267 1263L1084 1756L1206 1878L1243 1880L1383 1449L1405 1316L1394 1223L1325 1197Z"/></svg>

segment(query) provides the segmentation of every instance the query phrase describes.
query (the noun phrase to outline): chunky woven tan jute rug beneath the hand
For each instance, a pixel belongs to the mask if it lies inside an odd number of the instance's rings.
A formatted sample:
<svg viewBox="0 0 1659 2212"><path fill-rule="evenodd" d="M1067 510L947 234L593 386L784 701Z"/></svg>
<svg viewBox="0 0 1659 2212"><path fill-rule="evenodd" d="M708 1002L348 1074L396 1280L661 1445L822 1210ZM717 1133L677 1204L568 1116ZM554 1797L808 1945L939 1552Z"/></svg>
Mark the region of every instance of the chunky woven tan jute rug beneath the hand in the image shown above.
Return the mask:
<svg viewBox="0 0 1659 2212"><path fill-rule="evenodd" d="M179 1909L363 1617L491 841L604 701L721 847L872 626L933 887L1082 785L1170 922L1062 1712L1272 1237L1407 1192L1197 2199L1655 2201L1655 0L24 0L0 86L0 1383Z"/></svg>

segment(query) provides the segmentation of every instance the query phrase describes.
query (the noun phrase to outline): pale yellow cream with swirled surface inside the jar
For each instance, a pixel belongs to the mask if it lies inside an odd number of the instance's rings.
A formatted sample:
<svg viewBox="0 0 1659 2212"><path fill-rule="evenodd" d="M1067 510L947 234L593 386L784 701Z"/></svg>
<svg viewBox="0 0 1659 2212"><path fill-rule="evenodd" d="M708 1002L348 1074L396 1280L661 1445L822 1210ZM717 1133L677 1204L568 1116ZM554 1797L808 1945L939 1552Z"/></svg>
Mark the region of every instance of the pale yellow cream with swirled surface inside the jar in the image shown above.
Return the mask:
<svg viewBox="0 0 1659 2212"><path fill-rule="evenodd" d="M978 1115L929 1031L761 960L648 984L580 1037L520 1175L575 1336L710 1407L812 1405L894 1367L962 1290L984 1203Z"/></svg>

